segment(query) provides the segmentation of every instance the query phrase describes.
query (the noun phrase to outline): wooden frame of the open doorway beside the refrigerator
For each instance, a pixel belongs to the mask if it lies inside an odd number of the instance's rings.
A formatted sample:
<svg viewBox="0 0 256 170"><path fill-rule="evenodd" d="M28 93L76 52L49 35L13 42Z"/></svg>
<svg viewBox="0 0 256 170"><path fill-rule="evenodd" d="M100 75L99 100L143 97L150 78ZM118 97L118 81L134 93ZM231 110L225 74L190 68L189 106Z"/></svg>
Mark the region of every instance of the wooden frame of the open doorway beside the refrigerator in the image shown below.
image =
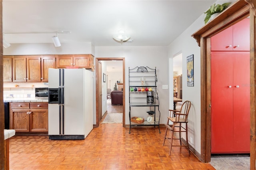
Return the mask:
<svg viewBox="0 0 256 170"><path fill-rule="evenodd" d="M98 105L99 105L99 78L98 78L98 61L100 60L121 60L123 61L123 127L125 127L125 58L95 58L95 67L96 67L96 127L99 127L100 125L100 117L99 117L99 111L98 111Z"/></svg>

